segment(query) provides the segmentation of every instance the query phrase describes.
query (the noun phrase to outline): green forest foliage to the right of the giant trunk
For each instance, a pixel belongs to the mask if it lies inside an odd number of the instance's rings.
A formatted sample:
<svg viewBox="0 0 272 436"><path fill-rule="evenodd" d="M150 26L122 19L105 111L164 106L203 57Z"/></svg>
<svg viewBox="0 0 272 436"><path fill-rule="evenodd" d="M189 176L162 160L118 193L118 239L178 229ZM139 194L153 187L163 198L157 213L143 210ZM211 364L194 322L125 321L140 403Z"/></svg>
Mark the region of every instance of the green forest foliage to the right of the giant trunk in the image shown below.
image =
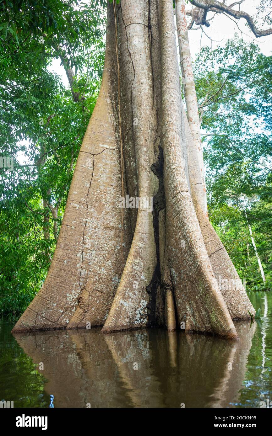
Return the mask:
<svg viewBox="0 0 272 436"><path fill-rule="evenodd" d="M247 289L271 289L272 57L235 38L203 48L194 68L210 219Z"/></svg>

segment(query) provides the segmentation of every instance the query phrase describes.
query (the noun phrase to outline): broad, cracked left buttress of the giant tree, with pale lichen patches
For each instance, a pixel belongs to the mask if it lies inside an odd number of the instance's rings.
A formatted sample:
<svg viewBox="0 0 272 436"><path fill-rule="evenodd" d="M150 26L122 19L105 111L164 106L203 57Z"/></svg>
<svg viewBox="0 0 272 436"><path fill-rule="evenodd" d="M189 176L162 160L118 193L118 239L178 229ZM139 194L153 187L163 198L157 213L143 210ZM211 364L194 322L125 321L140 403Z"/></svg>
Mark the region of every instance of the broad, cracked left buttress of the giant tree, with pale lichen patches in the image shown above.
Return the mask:
<svg viewBox="0 0 272 436"><path fill-rule="evenodd" d="M120 157L109 97L109 48L45 283L14 331L103 325L123 271ZM126 191L125 191L126 194ZM124 259L131 225L124 214ZM89 324L88 324L89 325Z"/></svg>

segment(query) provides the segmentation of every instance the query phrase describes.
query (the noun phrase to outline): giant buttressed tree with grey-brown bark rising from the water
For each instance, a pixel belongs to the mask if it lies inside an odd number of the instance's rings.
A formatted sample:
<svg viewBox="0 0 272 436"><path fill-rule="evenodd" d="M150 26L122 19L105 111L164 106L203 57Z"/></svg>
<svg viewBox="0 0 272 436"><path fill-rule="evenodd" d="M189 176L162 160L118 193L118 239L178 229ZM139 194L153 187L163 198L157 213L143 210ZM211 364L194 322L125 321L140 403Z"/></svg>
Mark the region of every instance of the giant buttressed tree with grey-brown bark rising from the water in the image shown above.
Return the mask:
<svg viewBox="0 0 272 436"><path fill-rule="evenodd" d="M238 337L255 313L210 224L186 15L252 18L225 1L107 4L99 97L77 159L52 264L14 332L166 326ZM122 200L124 199L124 201ZM228 283L228 286L222 286Z"/></svg>

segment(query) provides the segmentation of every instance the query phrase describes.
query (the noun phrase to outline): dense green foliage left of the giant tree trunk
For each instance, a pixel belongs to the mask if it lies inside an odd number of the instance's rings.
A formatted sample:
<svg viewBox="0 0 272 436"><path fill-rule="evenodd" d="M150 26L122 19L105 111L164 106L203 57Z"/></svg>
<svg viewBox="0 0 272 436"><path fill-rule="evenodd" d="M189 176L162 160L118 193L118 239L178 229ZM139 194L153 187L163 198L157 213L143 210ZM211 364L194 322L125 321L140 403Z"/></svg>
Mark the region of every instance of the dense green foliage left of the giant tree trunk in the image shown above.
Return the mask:
<svg viewBox="0 0 272 436"><path fill-rule="evenodd" d="M0 313L41 287L103 71L105 11L75 1L0 2ZM12 29L12 31L10 31ZM50 71L65 55L73 91ZM55 215L54 215L55 213Z"/></svg>

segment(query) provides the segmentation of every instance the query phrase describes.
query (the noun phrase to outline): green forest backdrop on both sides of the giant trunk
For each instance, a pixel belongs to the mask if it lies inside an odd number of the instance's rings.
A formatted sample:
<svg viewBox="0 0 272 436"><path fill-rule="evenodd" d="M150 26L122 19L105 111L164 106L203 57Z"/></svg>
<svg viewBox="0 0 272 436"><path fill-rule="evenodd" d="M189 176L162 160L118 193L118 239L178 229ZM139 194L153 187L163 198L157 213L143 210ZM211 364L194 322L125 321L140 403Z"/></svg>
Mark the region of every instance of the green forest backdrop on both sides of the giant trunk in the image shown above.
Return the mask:
<svg viewBox="0 0 272 436"><path fill-rule="evenodd" d="M8 7L7 7L8 5ZM22 13L22 11L24 11ZM45 279L103 71L105 8L0 1L0 313L17 317ZM66 89L48 67L74 71ZM248 289L272 286L272 58L235 39L195 62L209 214Z"/></svg>

